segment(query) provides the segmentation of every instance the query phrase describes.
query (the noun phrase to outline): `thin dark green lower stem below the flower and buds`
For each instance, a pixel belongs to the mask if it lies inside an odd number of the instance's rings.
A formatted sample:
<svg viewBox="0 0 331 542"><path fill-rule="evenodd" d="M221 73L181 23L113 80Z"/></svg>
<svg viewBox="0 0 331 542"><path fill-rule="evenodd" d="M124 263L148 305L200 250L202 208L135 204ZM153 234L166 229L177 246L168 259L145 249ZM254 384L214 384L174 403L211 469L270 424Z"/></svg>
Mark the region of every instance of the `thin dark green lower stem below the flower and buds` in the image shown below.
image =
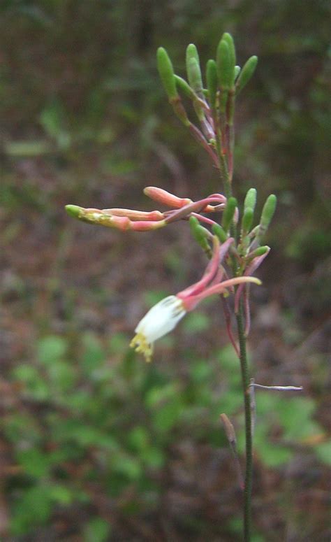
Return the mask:
<svg viewBox="0 0 331 542"><path fill-rule="evenodd" d="M246 473L244 484L244 542L251 540L251 487L253 477L253 446L251 436L251 401L249 396L249 368L247 363L246 336L244 333L243 308L236 315L240 347L240 367L242 371L242 392L244 394Z"/></svg>

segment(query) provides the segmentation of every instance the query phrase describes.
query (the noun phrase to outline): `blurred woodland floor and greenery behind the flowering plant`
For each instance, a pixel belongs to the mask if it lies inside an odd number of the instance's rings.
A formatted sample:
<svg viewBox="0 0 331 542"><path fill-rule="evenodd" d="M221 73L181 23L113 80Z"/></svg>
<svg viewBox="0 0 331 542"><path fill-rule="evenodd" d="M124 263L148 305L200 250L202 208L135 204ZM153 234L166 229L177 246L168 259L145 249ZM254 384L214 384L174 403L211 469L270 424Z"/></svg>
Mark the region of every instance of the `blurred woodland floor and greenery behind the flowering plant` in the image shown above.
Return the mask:
<svg viewBox="0 0 331 542"><path fill-rule="evenodd" d="M128 350L147 307L196 280L203 255L186 224L124 235L63 210L152 209L145 185L219 191L155 51L183 74L186 45L205 63L223 31L240 62L260 59L237 110L235 183L280 202L254 291L253 374L304 386L257 397L255 540L330 540L329 20L325 0L1 2L1 540L240 536L219 422L226 412L242 438L240 383L217 304L152 365Z"/></svg>

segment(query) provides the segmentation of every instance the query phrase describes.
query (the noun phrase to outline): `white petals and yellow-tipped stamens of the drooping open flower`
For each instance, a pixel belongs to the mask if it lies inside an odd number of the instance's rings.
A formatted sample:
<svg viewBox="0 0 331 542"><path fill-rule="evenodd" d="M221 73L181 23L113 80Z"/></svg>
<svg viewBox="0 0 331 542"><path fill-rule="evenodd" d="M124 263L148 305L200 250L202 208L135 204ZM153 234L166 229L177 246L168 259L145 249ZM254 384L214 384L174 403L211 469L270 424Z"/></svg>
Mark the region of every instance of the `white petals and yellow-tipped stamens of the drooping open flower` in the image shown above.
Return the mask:
<svg viewBox="0 0 331 542"><path fill-rule="evenodd" d="M186 315L182 299L175 295L165 297L149 309L135 328L135 336L130 346L141 352L147 362L152 359L153 343L177 326Z"/></svg>

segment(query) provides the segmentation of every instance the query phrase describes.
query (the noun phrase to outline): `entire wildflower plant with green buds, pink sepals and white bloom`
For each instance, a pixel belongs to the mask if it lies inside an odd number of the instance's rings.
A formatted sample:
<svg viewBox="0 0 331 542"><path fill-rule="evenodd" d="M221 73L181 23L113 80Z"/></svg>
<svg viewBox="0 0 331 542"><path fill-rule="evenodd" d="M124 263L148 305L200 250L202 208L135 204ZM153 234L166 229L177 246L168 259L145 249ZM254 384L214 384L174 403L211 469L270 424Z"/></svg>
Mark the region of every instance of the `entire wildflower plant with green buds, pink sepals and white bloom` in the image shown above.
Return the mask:
<svg viewBox="0 0 331 542"><path fill-rule="evenodd" d="M131 347L152 359L154 342L174 329L189 311L209 296L221 298L226 329L240 360L245 413L246 460L244 476L237 455L235 429L226 414L221 421L233 450L240 487L244 494L244 540L251 540L252 438L255 408L254 392L259 387L278 391L300 390L294 386L263 386L251 378L247 363L247 337L250 329L249 293L251 285L260 285L253 277L256 269L270 252L263 245L277 199L270 194L258 222L254 222L257 192L250 188L243 205L233 196L233 156L235 145L235 101L256 69L258 59L250 57L241 68L236 63L235 44L230 34L223 34L216 50L216 59L207 62L205 84L196 45L186 49L187 80L174 73L172 62L162 47L157 51L157 64L172 109L203 147L212 166L219 173L221 193L207 194L198 201L178 197L161 187L148 186L145 195L166 211L146 212L124 208L82 208L67 205L69 215L91 224L100 224L121 231L151 231L173 227L186 221L195 241L209 259L202 278L182 292L159 301L135 328ZM191 101L198 125L186 112Z"/></svg>

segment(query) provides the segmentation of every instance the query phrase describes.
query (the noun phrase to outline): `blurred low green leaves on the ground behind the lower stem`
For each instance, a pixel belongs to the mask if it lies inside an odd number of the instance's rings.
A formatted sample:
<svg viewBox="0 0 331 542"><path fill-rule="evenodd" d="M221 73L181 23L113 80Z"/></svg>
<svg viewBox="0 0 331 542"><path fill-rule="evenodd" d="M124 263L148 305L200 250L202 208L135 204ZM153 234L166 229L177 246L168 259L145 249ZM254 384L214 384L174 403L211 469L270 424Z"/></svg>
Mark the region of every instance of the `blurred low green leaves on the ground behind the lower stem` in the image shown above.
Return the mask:
<svg viewBox="0 0 331 542"><path fill-rule="evenodd" d="M194 332L196 322L191 326ZM242 448L240 373L230 345L209 359L187 352L186 375L169 380L157 359L153 364L136 359L122 334L103 343L86 332L81 340L79 355L73 356L66 338L44 336L35 362L13 369L25 405L3 420L15 457L10 482L14 535L34 532L61 508L89 510L96 488L99 498L117 499L124 515L152 513L160 506L167 483L162 473L178 438L227 446L222 412L234 420ZM123 362L113 357L119 350L126 350ZM323 434L307 397L256 396L256 454L266 466L289 462ZM274 427L277 436L270 434ZM313 449L330 463L330 441ZM111 527L106 520L88 513L84 540L106 540Z"/></svg>

